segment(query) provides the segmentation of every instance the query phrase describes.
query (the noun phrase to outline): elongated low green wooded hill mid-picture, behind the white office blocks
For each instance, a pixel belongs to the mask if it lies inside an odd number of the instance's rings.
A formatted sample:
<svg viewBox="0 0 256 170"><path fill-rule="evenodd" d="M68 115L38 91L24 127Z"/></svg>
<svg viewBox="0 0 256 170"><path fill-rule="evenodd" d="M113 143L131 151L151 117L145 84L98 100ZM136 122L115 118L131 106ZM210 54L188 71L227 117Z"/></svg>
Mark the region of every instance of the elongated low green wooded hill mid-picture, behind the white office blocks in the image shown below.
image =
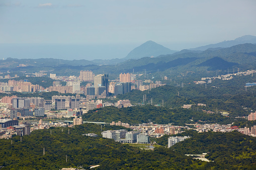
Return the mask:
<svg viewBox="0 0 256 170"><path fill-rule="evenodd" d="M149 123L185 125L185 123L219 123L229 124L241 118L222 116L220 113L207 114L202 110L190 110L184 108L170 109L166 107L144 105L128 108L116 108L108 106L89 110L82 115L84 121L107 122L121 121L129 124ZM193 121L191 121L193 120Z"/></svg>

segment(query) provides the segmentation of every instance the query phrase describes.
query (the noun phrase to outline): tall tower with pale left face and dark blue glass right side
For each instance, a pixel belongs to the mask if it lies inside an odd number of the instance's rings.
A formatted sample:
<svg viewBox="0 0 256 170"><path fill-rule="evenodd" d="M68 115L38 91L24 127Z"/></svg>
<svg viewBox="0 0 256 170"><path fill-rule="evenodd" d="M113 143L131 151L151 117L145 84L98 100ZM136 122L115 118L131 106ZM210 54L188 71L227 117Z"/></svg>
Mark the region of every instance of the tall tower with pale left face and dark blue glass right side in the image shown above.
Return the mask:
<svg viewBox="0 0 256 170"><path fill-rule="evenodd" d="M94 87L95 87L95 95L101 95L98 93L98 87L105 86L106 87L106 94L108 95L109 91L109 75L108 74L99 74L94 76Z"/></svg>

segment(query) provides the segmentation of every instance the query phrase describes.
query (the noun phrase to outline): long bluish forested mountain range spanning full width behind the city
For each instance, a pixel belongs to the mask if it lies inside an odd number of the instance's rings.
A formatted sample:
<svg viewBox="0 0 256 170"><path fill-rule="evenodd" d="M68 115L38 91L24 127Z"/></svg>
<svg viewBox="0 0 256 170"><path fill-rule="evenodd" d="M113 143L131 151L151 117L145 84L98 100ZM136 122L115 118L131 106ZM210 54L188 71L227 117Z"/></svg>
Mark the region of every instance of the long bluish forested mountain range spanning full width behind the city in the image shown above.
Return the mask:
<svg viewBox="0 0 256 170"><path fill-rule="evenodd" d="M212 62L213 60L214 62ZM97 61L98 62L98 61ZM228 69L240 68L242 70L253 69L256 65L256 45L241 44L229 48L206 50L203 52L192 52L185 50L171 55L161 55L159 57L143 57L138 60L130 59L122 63L113 65L98 65L86 60L51 60L51 59L11 59L0 60L0 71L10 72L10 75L24 72L39 72L41 70L57 75L69 76L79 75L80 70L92 70L95 74L107 73L113 79L120 73L146 73L154 74L158 72L166 76L178 76L180 73L196 72L206 73L206 71L219 70L227 72ZM208 63L208 64L207 64ZM25 64L27 67L18 67ZM106 63L107 64L107 63Z"/></svg>

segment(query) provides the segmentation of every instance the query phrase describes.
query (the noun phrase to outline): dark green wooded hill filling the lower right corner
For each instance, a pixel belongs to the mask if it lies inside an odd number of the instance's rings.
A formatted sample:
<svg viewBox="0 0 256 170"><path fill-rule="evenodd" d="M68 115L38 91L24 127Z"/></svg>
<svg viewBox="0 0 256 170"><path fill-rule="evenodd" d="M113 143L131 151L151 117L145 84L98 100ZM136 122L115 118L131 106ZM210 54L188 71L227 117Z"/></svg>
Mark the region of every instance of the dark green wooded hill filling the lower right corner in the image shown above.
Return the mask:
<svg viewBox="0 0 256 170"><path fill-rule="evenodd" d="M256 138L237 131L229 133L187 131L179 136L189 135L191 138L176 143L171 150L182 154L207 153L213 169L255 169ZM155 139L158 144L167 146L168 136ZM173 135L175 136L175 135Z"/></svg>

